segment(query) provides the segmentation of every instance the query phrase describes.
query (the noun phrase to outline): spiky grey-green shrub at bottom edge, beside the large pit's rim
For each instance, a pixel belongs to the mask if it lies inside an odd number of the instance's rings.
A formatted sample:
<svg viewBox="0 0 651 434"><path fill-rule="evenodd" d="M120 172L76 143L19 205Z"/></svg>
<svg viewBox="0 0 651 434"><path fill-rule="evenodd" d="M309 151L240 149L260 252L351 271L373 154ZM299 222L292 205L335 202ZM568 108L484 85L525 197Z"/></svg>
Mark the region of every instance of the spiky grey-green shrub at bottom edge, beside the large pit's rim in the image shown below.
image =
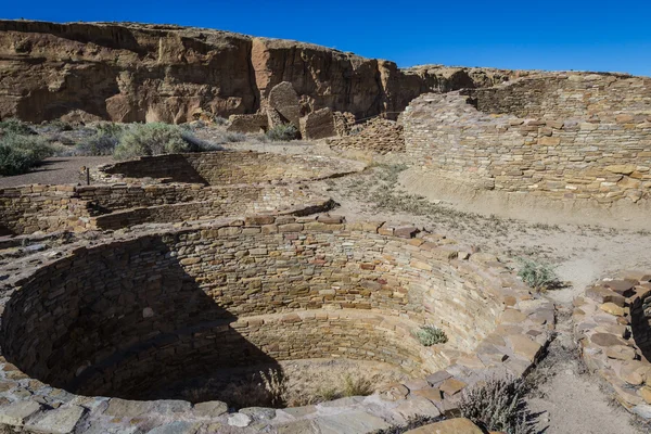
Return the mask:
<svg viewBox="0 0 651 434"><path fill-rule="evenodd" d="M487 431L507 434L535 432L524 396L527 386L522 379L489 379L485 384L471 387L461 395L461 416Z"/></svg>

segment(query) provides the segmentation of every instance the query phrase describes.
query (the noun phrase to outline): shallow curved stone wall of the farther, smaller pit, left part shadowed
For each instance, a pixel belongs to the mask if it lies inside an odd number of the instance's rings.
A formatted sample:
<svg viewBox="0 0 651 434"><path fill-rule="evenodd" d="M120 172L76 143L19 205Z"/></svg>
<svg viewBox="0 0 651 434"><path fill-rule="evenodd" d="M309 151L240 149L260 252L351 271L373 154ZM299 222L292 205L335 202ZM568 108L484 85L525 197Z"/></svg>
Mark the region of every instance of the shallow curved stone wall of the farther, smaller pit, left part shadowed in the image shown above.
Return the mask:
<svg viewBox="0 0 651 434"><path fill-rule="evenodd" d="M216 151L143 156L100 166L100 181L153 178L210 186L299 181L330 178L363 169L363 164L324 156L281 155L260 152Z"/></svg>

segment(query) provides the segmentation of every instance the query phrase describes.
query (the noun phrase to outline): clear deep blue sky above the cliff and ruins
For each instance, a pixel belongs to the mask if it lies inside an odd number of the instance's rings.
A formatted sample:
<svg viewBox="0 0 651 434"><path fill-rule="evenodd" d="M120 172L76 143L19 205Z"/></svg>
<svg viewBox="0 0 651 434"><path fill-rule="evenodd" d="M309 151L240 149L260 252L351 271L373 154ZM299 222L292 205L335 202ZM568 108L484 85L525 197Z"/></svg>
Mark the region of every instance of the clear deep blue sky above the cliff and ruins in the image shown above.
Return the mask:
<svg viewBox="0 0 651 434"><path fill-rule="evenodd" d="M387 59L651 76L651 0L3 1L2 18L180 24Z"/></svg>

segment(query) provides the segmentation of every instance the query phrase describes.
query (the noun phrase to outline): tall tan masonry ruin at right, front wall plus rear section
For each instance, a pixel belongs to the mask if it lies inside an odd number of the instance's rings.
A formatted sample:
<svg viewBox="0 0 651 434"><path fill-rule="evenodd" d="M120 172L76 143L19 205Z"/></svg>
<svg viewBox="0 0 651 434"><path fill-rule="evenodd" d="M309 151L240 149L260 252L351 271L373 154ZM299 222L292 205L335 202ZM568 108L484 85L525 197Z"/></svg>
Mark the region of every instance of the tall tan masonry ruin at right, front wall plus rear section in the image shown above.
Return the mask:
<svg viewBox="0 0 651 434"><path fill-rule="evenodd" d="M633 78L596 76L597 86L590 77L525 78L419 97L403 116L407 154L424 170L476 189L647 202L651 95L623 92L623 86L637 89Z"/></svg>

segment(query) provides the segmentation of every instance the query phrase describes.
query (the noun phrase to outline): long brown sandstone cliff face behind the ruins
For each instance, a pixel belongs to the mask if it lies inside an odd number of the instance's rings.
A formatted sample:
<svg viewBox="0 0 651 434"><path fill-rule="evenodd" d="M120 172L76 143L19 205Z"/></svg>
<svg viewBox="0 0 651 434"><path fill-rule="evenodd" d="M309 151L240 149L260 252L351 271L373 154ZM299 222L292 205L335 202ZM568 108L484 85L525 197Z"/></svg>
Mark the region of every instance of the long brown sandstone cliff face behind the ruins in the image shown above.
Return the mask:
<svg viewBox="0 0 651 434"><path fill-rule="evenodd" d="M177 26L0 21L0 118L183 123L264 108L289 81L302 114L400 112L423 92L492 86L513 72L424 66L308 43Z"/></svg>

